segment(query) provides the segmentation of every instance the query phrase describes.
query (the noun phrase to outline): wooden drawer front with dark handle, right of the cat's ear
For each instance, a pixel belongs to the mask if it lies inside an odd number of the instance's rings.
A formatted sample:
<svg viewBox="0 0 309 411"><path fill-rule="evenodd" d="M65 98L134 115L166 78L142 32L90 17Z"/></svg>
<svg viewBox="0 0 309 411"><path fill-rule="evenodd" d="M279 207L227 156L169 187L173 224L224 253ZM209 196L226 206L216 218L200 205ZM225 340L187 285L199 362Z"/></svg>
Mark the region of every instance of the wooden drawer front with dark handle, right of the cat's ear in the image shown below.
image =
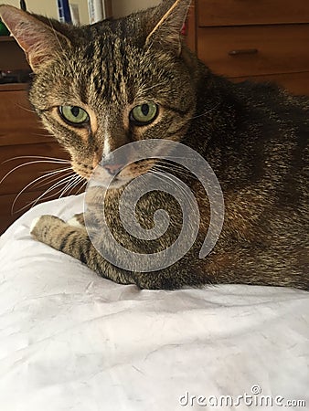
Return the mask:
<svg viewBox="0 0 309 411"><path fill-rule="evenodd" d="M309 70L309 25L197 29L197 56L228 77Z"/></svg>

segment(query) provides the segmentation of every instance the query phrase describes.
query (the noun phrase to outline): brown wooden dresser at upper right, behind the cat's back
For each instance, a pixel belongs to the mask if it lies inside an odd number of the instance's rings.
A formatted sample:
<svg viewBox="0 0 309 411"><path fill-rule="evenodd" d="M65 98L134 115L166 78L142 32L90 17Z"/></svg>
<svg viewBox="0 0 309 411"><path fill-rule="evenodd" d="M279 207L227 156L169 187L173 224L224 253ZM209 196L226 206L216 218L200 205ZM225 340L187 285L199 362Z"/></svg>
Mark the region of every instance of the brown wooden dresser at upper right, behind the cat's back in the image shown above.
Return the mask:
<svg viewBox="0 0 309 411"><path fill-rule="evenodd" d="M194 0L187 35L215 73L309 94L308 0Z"/></svg>

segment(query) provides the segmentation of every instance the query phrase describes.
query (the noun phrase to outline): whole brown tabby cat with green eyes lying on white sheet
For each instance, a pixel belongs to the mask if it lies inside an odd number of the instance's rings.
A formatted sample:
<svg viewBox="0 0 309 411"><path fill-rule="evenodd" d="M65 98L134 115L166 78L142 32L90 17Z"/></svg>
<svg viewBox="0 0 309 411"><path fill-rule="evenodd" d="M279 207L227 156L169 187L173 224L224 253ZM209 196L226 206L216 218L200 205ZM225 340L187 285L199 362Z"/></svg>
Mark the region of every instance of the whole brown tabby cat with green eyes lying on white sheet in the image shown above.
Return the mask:
<svg viewBox="0 0 309 411"><path fill-rule="evenodd" d="M177 174L168 162L164 167L190 187L201 213L193 247L172 266L152 272L115 267L92 245L82 216L69 222L40 216L31 234L101 276L141 289L243 283L308 290L309 100L273 84L233 84L212 73L180 35L189 5L165 0L80 27L9 5L1 5L0 14L35 73L30 101L69 151L77 174L89 179L109 153L146 139L182 142L208 161L225 200L216 247L198 257L208 231L207 195L193 175ZM104 172L117 174L120 165L107 163ZM152 227L155 211L165 209L173 222L165 235L146 242L123 230L117 212L123 187L156 166L162 163L126 166L104 202L112 234L135 252L169 247L183 222L176 201L153 191L141 199L136 218Z"/></svg>

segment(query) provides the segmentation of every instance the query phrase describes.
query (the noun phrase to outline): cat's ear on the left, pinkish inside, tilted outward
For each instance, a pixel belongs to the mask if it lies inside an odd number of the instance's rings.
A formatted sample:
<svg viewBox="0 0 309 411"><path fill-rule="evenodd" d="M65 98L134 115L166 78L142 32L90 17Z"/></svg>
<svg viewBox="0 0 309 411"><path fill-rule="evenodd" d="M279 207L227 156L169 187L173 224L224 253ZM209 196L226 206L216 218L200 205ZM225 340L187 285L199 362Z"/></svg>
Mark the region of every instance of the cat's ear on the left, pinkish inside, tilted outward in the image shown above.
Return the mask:
<svg viewBox="0 0 309 411"><path fill-rule="evenodd" d="M35 73L55 59L60 44L69 43L67 37L51 26L12 5L0 5L0 16L25 51L27 61Z"/></svg>

